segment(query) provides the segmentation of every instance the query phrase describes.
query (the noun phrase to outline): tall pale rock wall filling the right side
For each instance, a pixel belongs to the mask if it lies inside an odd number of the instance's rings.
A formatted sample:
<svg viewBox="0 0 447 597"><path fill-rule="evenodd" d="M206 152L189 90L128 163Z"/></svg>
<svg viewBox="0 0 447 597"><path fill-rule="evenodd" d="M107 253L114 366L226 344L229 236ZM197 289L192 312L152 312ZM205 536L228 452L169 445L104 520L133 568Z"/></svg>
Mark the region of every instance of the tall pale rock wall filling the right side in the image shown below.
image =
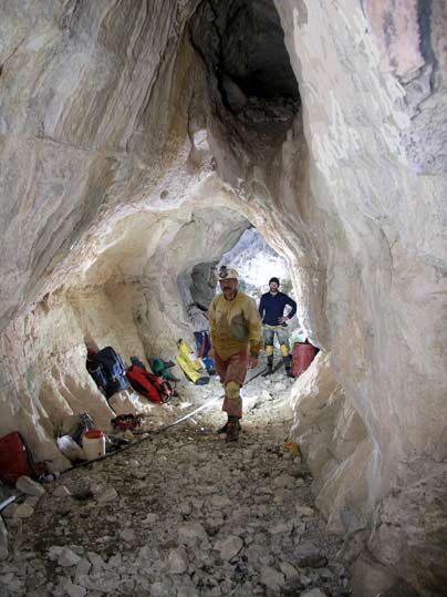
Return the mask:
<svg viewBox="0 0 447 597"><path fill-rule="evenodd" d="M325 269L324 346L366 434L332 472L334 455L319 459L319 502L352 536L370 537L389 578L441 595L446 535L434 504L446 495L446 14L443 2L416 4L399 12L392 2L291 0L277 8L300 83L319 210L312 227ZM311 457L326 445L310 442ZM419 505L422 486L433 505ZM433 515L423 522L425 507Z"/></svg>

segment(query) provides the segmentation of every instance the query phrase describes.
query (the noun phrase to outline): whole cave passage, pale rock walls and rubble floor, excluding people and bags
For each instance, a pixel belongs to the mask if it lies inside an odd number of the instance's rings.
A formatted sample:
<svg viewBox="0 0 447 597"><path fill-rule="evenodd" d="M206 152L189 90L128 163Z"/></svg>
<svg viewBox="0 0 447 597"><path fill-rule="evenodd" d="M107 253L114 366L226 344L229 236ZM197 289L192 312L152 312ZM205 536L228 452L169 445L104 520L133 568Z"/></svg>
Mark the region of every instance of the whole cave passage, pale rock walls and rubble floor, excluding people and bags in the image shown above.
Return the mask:
<svg viewBox="0 0 447 597"><path fill-rule="evenodd" d="M1 3L0 438L61 471L72 416L156 436L0 518L2 596L347 597L311 492L355 596L445 595L445 4ZM227 255L252 227L321 351L247 384L238 452L219 409L162 438L216 378L112 400L86 343L190 354L215 265L278 274Z"/></svg>

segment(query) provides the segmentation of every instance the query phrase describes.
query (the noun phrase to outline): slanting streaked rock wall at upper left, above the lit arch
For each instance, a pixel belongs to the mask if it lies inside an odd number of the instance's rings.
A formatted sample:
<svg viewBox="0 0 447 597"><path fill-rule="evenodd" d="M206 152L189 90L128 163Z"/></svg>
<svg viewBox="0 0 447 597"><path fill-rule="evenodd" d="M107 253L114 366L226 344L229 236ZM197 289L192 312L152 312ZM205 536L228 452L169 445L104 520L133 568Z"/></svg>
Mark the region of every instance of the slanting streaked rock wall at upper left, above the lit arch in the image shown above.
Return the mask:
<svg viewBox="0 0 447 597"><path fill-rule="evenodd" d="M142 194L163 193L167 204L181 198L184 186L171 176L174 187L157 186L187 136L195 75L179 45L194 7L2 3L2 328L45 294L51 276L53 284L66 278L69 256L85 261L81 247L91 251ZM156 85L160 76L169 84Z"/></svg>

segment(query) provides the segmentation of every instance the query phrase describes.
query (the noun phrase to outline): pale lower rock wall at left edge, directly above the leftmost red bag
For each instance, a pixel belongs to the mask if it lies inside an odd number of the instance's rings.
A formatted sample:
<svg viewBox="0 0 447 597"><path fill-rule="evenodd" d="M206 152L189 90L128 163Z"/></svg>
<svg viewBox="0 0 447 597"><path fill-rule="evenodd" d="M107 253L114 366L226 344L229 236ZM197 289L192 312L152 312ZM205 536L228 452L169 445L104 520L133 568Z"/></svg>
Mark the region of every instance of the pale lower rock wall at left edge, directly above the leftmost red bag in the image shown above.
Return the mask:
<svg viewBox="0 0 447 597"><path fill-rule="evenodd" d="M107 310L103 305L104 317L113 317ZM86 374L85 342L75 310L64 297L48 297L7 328L1 353L0 434L20 431L38 461L51 461L52 470L66 467L54 444L58 423L89 412L108 429L113 416Z"/></svg>

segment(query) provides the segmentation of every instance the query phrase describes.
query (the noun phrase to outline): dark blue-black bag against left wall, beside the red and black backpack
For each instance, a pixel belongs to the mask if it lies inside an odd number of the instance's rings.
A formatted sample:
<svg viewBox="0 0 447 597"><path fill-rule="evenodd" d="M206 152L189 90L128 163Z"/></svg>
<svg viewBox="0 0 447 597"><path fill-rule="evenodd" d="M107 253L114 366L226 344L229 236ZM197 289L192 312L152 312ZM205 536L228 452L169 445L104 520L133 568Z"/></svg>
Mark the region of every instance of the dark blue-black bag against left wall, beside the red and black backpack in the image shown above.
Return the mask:
<svg viewBox="0 0 447 597"><path fill-rule="evenodd" d="M87 356L87 371L107 398L129 387L123 359L112 347Z"/></svg>

